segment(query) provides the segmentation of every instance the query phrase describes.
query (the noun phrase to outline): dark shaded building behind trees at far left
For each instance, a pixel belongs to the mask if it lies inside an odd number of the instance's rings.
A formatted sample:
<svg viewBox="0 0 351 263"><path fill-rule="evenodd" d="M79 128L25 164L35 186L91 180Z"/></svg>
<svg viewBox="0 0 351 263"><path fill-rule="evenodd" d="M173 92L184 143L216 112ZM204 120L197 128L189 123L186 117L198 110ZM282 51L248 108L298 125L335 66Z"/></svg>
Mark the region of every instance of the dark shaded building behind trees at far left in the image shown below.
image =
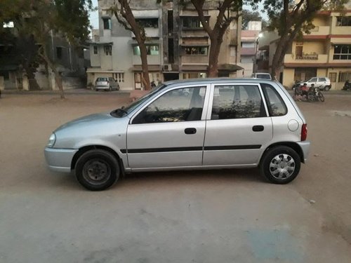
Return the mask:
<svg viewBox="0 0 351 263"><path fill-rule="evenodd" d="M15 22L0 26L4 27L0 34L0 89L29 90L31 79L28 79L25 67L22 65L22 56L23 54L29 57L34 55L37 48L33 45L37 46L38 43L16 40L18 30ZM11 36L11 38L4 36ZM81 88L85 85L82 79L85 77L86 68L90 67L88 58L84 56L85 49L84 46L70 45L66 39L54 32L49 33L46 53L62 75L62 85L65 89ZM53 72L44 63L40 63L34 71L36 89L58 90Z"/></svg>

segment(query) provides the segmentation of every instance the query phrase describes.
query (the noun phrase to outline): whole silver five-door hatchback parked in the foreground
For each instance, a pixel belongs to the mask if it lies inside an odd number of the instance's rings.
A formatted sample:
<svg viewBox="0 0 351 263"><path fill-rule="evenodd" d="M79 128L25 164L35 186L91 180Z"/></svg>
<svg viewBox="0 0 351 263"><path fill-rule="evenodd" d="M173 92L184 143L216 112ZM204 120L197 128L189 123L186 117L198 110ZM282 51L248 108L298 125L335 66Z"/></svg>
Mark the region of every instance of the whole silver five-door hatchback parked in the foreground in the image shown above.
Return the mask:
<svg viewBox="0 0 351 263"><path fill-rule="evenodd" d="M307 159L306 137L305 118L280 83L193 79L66 123L50 136L45 156L51 170L74 170L95 191L125 173L257 166L270 182L286 184Z"/></svg>

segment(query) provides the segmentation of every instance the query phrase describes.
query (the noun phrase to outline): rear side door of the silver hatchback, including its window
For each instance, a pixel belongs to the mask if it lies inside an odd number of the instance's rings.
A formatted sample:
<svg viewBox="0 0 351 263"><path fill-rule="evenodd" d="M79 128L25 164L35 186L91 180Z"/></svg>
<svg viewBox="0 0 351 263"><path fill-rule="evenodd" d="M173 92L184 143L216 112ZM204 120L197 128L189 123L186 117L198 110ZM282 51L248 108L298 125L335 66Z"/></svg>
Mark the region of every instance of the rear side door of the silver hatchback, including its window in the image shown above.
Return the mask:
<svg viewBox="0 0 351 263"><path fill-rule="evenodd" d="M208 107L204 166L254 165L263 145L272 140L272 120L267 116L257 84L213 85Z"/></svg>

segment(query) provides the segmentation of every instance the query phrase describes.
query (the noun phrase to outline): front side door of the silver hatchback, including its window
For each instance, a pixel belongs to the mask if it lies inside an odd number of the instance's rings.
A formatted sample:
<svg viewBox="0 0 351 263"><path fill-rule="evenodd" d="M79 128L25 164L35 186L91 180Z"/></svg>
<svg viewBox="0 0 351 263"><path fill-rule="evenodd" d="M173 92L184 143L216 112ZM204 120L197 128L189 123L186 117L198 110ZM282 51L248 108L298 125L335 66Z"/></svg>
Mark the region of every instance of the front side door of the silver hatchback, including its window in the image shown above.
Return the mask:
<svg viewBox="0 0 351 263"><path fill-rule="evenodd" d="M132 117L127 130L132 169L201 166L206 86L168 91Z"/></svg>

